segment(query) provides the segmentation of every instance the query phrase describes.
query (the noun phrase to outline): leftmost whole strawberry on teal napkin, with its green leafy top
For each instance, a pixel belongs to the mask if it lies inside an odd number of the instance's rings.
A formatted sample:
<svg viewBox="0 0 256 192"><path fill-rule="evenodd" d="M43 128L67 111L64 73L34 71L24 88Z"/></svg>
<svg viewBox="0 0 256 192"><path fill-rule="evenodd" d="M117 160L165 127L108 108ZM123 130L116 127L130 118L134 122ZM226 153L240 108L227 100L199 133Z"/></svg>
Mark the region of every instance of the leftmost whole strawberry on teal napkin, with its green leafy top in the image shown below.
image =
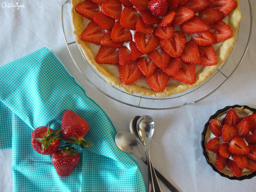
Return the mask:
<svg viewBox="0 0 256 192"><path fill-rule="evenodd" d="M51 155L54 154L61 145L61 138L58 132L61 130L53 131L51 128L41 126L36 128L31 135L31 145L39 154Z"/></svg>

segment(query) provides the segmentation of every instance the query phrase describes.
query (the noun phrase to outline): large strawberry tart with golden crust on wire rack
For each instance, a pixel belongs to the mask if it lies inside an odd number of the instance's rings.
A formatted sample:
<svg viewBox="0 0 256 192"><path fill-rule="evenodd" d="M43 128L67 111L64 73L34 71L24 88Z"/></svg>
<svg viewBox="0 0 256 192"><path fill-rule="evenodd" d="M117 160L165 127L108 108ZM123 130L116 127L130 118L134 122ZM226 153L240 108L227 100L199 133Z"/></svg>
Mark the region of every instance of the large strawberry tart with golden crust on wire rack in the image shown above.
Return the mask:
<svg viewBox="0 0 256 192"><path fill-rule="evenodd" d="M207 80L230 55L239 0L72 0L76 42L111 86L170 96Z"/></svg>

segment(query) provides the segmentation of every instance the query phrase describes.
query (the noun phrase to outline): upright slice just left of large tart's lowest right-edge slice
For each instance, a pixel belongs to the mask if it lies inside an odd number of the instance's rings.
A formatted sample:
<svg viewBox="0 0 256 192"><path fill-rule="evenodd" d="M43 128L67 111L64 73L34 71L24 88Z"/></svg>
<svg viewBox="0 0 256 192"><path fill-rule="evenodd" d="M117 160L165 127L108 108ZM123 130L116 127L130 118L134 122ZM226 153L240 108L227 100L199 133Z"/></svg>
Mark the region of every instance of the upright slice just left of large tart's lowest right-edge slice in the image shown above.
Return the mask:
<svg viewBox="0 0 256 192"><path fill-rule="evenodd" d="M183 53L180 55L180 61L193 64L200 63L198 46L193 41L186 42Z"/></svg>

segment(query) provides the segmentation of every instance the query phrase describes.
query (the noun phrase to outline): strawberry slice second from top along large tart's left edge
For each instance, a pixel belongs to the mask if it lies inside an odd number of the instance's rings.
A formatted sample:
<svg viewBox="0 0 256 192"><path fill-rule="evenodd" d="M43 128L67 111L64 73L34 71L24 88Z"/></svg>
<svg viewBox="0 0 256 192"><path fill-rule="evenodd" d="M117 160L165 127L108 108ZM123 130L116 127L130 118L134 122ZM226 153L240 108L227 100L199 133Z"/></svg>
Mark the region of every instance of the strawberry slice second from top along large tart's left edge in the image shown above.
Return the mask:
<svg viewBox="0 0 256 192"><path fill-rule="evenodd" d="M97 5L98 6L98 5ZM81 33L83 41L100 45L100 40L105 36L105 30L94 21L88 23L87 27Z"/></svg>

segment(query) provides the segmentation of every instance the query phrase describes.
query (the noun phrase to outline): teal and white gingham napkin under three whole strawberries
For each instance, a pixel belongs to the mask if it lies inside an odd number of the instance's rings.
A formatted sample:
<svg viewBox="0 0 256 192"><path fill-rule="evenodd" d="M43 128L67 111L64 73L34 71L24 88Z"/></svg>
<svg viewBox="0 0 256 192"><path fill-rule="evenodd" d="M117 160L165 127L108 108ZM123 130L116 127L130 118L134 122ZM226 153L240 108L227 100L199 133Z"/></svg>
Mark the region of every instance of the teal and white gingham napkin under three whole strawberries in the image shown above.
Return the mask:
<svg viewBox="0 0 256 192"><path fill-rule="evenodd" d="M77 148L79 165L60 177L52 157L38 154L30 137L42 125L61 128L68 109L87 120L85 140L94 147ZM111 120L48 47L0 67L0 133L0 149L12 148L14 192L146 191L136 161L114 143Z"/></svg>

